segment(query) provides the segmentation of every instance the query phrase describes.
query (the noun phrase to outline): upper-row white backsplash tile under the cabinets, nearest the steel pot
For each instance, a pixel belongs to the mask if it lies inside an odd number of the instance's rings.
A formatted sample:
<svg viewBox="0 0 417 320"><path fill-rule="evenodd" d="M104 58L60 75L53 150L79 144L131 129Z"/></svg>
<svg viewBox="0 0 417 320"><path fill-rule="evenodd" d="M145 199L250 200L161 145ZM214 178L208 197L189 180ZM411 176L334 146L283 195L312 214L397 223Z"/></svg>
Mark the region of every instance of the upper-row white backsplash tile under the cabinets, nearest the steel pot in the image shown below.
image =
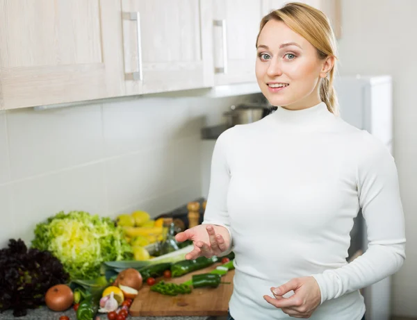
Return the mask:
<svg viewBox="0 0 417 320"><path fill-rule="evenodd" d="M202 127L201 119L190 119L186 99L169 98L104 103L103 124L108 156L196 135Z"/></svg>

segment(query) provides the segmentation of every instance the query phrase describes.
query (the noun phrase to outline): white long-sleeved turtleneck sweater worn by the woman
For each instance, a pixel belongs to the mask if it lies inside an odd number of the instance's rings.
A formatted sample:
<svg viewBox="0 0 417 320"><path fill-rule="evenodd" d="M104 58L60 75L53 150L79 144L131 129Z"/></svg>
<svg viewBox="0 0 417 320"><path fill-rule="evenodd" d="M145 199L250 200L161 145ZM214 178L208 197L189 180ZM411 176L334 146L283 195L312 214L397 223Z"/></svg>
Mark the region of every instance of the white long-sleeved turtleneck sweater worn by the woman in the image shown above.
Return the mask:
<svg viewBox="0 0 417 320"><path fill-rule="evenodd" d="M369 245L348 264L359 208ZM222 133L204 224L231 233L236 273L229 308L235 320L290 318L263 295L302 276L316 278L321 291L310 319L360 320L365 305L359 289L398 271L405 258L393 157L325 103L278 108Z"/></svg>

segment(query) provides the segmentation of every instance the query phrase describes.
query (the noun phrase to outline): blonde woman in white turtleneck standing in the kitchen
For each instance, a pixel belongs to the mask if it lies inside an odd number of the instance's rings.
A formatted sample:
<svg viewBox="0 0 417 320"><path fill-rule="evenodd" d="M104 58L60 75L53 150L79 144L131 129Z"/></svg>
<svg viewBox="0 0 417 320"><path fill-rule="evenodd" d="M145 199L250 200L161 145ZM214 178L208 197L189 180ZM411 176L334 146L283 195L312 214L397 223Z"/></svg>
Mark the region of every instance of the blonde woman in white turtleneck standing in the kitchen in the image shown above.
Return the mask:
<svg viewBox="0 0 417 320"><path fill-rule="evenodd" d="M400 269L404 217L389 151L336 117L336 42L301 3L266 15L256 78L277 111L215 144L204 225L177 235L199 255L233 249L230 319L361 320L359 289ZM361 208L369 247L347 264Z"/></svg>

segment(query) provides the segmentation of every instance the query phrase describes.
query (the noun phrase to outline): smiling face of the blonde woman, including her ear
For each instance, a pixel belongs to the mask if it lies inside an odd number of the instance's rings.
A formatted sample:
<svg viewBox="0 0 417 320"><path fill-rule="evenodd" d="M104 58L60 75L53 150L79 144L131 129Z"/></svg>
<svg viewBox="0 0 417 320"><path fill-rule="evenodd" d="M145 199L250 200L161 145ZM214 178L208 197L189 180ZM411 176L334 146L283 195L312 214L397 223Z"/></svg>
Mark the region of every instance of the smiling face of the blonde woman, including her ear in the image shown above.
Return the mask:
<svg viewBox="0 0 417 320"><path fill-rule="evenodd" d="M256 50L256 79L272 106L297 110L320 103L320 77L333 58L320 60L310 42L277 20L262 28Z"/></svg>

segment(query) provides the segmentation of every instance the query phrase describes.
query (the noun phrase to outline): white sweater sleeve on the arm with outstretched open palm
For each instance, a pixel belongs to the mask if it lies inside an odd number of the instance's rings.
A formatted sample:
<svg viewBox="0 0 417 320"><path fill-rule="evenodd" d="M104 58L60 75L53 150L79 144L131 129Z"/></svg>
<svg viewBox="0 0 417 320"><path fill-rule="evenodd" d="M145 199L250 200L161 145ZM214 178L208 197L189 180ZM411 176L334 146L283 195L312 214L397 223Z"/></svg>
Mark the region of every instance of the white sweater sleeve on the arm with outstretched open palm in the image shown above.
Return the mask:
<svg viewBox="0 0 417 320"><path fill-rule="evenodd" d="M231 245L222 255L227 255L232 250L232 237L230 231L229 212L227 212L227 192L229 190L230 168L227 159L227 140L230 131L226 130L215 142L211 158L210 187L203 224L223 226L229 231Z"/></svg>

